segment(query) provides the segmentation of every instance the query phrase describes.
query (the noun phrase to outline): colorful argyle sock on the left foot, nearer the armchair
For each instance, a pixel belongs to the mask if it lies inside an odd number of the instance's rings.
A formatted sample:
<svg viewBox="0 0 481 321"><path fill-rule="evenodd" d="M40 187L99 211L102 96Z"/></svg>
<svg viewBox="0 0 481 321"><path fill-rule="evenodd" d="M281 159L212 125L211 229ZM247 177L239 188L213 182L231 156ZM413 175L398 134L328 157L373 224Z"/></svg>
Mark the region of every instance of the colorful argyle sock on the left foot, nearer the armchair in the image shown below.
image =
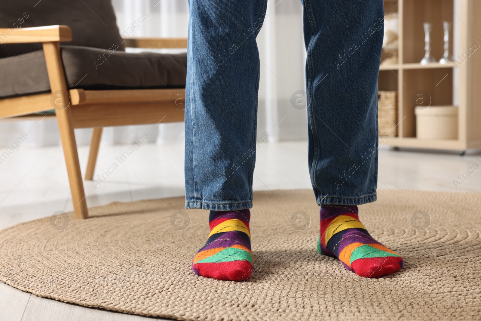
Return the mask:
<svg viewBox="0 0 481 321"><path fill-rule="evenodd" d="M192 261L197 275L217 280L245 281L252 274L251 232L248 209L211 211L207 243Z"/></svg>

